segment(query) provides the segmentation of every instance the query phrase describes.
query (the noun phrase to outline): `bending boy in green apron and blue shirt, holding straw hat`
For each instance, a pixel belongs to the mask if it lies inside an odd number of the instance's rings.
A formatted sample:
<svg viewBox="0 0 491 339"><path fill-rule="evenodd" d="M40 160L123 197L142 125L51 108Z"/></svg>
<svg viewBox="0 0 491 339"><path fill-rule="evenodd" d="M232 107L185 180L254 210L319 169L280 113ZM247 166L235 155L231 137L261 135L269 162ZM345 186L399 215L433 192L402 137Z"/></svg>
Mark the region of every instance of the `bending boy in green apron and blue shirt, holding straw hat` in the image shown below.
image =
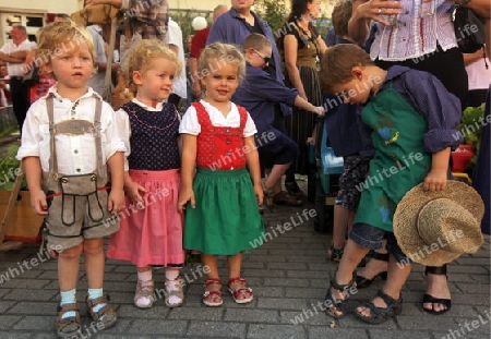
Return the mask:
<svg viewBox="0 0 491 339"><path fill-rule="evenodd" d="M325 53L321 84L346 104L364 105L361 134L374 149L355 225L326 293L326 313L344 316L354 270L386 237L387 280L372 301L355 311L361 320L380 324L400 314L400 291L412 268L393 233L394 210L421 182L427 191L445 189L451 148L460 143L455 137L460 102L433 75L398 65L385 71L356 45L337 45Z"/></svg>

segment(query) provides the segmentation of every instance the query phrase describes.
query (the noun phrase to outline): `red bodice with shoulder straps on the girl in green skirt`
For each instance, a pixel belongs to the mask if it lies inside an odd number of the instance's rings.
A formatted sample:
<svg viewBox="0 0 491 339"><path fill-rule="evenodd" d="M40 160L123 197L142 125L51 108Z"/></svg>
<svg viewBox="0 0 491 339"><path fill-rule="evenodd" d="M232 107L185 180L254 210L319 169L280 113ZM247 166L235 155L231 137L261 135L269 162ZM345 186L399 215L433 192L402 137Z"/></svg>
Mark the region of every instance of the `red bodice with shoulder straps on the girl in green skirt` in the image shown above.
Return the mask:
<svg viewBox="0 0 491 339"><path fill-rule="evenodd" d="M205 107L193 102L201 133L197 135L196 165L201 168L232 170L246 167L243 129L248 119L246 108L237 106L238 128L214 126Z"/></svg>

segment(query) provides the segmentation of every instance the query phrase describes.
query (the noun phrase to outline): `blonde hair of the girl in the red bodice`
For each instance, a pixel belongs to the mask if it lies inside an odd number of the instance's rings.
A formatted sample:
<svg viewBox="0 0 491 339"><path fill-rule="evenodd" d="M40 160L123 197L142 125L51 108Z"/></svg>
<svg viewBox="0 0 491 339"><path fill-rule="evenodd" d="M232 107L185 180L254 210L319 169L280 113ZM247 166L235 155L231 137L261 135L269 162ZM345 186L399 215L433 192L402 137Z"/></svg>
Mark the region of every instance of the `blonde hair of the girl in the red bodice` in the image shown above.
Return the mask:
<svg viewBox="0 0 491 339"><path fill-rule="evenodd" d="M206 46L197 61L199 78L208 75L212 71L227 63L237 68L237 75L242 80L246 73L246 59L236 46L221 43Z"/></svg>

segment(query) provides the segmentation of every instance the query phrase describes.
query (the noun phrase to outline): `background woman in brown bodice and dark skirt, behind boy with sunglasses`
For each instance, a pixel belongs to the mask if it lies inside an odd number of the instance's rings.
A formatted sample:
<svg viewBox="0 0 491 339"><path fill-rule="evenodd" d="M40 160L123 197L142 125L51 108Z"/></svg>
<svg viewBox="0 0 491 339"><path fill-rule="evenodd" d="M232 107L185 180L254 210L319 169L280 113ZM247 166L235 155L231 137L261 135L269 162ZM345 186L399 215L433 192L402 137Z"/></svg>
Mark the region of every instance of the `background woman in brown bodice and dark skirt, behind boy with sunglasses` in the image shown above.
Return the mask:
<svg viewBox="0 0 491 339"><path fill-rule="evenodd" d="M327 47L312 24L321 14L320 0L291 0L287 22L280 28L278 49L285 61L285 77L288 85L297 88L300 97L313 106L322 105L322 93L316 70L318 56ZM299 156L285 178L288 193L304 197L295 181L295 173L309 175L309 199L315 197L315 173L309 170L307 138L313 134L315 117L311 112L294 108L294 114L285 118L287 135L297 142Z"/></svg>

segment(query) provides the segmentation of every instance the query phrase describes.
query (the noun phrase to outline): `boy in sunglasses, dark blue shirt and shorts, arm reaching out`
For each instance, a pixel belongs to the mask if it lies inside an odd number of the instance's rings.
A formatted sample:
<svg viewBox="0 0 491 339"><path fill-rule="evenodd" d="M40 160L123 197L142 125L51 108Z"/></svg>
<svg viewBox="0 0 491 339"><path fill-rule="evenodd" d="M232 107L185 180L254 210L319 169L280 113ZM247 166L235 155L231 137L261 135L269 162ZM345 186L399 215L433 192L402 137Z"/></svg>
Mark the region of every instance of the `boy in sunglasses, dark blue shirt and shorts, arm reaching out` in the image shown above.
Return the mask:
<svg viewBox="0 0 491 339"><path fill-rule="evenodd" d="M264 35L249 35L242 43L242 49L247 61L246 80L236 90L232 101L246 107L255 123L261 161L265 158L273 161L263 186L266 201L270 198L278 205L300 206L303 204L301 199L282 191L282 177L297 157L298 146L275 126L275 110L279 109L279 104L286 104L323 116L324 109L302 99L297 89L286 87L264 71L273 51Z"/></svg>

